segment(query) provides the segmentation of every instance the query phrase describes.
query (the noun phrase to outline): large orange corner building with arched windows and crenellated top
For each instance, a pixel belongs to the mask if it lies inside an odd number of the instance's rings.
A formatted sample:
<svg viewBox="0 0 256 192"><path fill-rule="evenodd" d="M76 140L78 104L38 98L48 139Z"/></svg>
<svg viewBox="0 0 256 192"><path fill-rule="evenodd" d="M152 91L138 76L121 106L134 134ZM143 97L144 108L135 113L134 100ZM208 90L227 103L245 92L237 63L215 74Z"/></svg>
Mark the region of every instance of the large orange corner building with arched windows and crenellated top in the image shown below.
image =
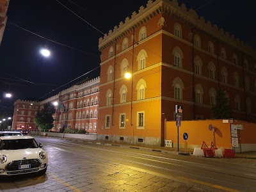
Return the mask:
<svg viewBox="0 0 256 192"><path fill-rule="evenodd" d="M219 88L234 119L255 122L255 50L176 0L148 1L99 50L99 140L164 146L175 105L182 120L213 118Z"/></svg>

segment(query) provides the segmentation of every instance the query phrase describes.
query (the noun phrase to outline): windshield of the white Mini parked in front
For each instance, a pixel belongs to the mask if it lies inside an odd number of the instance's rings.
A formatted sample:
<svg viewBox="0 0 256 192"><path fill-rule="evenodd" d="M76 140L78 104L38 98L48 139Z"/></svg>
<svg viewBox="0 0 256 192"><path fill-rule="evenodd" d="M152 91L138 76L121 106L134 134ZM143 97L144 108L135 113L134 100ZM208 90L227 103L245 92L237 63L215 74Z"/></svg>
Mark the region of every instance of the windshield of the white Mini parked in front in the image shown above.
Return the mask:
<svg viewBox="0 0 256 192"><path fill-rule="evenodd" d="M24 148L38 148L35 139L1 140L0 150L17 150Z"/></svg>

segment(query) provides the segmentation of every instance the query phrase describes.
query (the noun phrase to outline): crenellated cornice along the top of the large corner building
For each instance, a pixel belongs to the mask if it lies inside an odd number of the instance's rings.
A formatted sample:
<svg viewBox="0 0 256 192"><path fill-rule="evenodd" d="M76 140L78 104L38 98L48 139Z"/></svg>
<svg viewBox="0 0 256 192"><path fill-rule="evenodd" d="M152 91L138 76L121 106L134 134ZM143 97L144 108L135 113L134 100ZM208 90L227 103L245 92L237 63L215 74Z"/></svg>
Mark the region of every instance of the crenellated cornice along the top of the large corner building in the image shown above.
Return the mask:
<svg viewBox="0 0 256 192"><path fill-rule="evenodd" d="M119 26L115 26L113 30L109 30L108 34L99 38L99 51L106 49L113 42L123 38L128 33L131 33L133 29L138 28L160 13L175 17L177 20L191 26L191 28L204 31L206 34L216 38L216 40L223 42L223 44L230 45L255 58L255 49L244 44L239 38L235 38L234 35L230 35L222 28L218 28L217 25L212 25L211 21L205 22L204 17L198 17L195 10L187 10L185 4L180 4L179 6L177 0L149 0L146 7L141 6L138 12L133 12L131 17L126 17L125 21L120 22Z"/></svg>

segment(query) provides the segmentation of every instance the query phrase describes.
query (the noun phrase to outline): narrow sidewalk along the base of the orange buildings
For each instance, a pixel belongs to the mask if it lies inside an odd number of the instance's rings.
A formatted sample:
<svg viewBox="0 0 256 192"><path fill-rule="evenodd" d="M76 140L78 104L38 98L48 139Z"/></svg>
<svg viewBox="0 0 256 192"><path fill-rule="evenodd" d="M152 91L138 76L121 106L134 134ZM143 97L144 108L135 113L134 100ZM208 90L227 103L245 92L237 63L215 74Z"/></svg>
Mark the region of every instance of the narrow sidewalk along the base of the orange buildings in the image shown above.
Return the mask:
<svg viewBox="0 0 256 192"><path fill-rule="evenodd" d="M62 139L62 138L60 138L60 139ZM97 143L100 145L111 145L111 146L116 146L116 147L136 148L136 149L140 149L140 150L150 150L150 151L156 151L156 152L181 154L181 155L189 155L189 154L193 155L193 152L194 152L194 150L191 148L186 149L186 152L185 152L184 148L179 148L179 153L178 153L178 149L173 148L173 147L136 145L136 144L132 144L132 143L117 143L117 142L111 142L111 141L81 140L81 139L77 139L77 138L65 138L65 140L84 141L84 142L88 142L88 143ZM256 161L256 151L236 153L235 156L236 156L236 158L255 159L255 161Z"/></svg>

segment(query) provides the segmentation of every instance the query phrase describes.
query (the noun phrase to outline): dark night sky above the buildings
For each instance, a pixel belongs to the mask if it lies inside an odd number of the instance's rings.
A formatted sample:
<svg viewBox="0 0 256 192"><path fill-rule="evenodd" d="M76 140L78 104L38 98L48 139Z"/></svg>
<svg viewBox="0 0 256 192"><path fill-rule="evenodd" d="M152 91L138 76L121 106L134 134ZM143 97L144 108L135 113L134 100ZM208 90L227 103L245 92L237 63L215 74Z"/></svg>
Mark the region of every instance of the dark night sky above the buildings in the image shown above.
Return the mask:
<svg viewBox="0 0 256 192"><path fill-rule="evenodd" d="M253 1L178 2L256 48ZM99 76L99 38L146 4L147 0L10 0L8 22L0 45L0 116L3 113L12 116L17 99L46 99L86 77ZM45 45L51 50L49 58L40 54ZM90 70L93 72L88 73ZM80 76L83 77L68 83ZM9 90L12 99L2 96Z"/></svg>

